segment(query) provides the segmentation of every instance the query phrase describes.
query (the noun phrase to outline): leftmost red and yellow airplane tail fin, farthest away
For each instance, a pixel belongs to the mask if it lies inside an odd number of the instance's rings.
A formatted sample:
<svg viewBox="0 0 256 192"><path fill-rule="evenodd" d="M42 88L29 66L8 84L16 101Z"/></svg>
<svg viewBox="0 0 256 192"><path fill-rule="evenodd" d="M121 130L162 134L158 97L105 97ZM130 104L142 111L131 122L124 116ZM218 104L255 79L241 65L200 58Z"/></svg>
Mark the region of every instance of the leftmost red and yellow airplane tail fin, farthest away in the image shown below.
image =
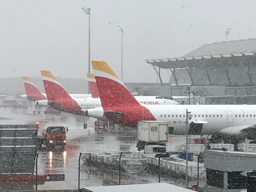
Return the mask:
<svg viewBox="0 0 256 192"><path fill-rule="evenodd" d="M39 91L34 83L27 76L22 76L27 97L33 101L45 100L46 97Z"/></svg>

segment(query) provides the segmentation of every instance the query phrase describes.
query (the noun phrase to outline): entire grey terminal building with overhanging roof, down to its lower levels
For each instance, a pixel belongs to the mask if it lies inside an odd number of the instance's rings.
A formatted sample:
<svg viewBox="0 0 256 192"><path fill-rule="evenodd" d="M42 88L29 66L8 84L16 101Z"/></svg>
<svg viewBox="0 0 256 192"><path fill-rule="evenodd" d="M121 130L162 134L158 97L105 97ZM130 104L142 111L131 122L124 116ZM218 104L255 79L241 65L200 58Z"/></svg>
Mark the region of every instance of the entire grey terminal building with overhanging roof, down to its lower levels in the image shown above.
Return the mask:
<svg viewBox="0 0 256 192"><path fill-rule="evenodd" d="M207 97L201 104L256 103L256 38L205 44L182 57L146 62L160 80L150 91L161 96ZM170 72L168 83L162 81L161 70Z"/></svg>

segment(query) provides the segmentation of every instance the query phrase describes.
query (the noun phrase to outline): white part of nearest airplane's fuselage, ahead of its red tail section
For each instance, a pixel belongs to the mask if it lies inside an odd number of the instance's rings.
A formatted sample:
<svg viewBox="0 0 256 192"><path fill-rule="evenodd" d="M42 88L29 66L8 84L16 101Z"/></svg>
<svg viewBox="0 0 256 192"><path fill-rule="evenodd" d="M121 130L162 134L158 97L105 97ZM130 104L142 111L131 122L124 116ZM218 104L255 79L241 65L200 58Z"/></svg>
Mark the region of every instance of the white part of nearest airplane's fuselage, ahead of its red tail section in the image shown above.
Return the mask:
<svg viewBox="0 0 256 192"><path fill-rule="evenodd" d="M224 128L256 124L255 105L179 105L147 106L158 121L170 122L177 131L185 133L186 109L191 112L190 122L202 122L202 134L211 134Z"/></svg>

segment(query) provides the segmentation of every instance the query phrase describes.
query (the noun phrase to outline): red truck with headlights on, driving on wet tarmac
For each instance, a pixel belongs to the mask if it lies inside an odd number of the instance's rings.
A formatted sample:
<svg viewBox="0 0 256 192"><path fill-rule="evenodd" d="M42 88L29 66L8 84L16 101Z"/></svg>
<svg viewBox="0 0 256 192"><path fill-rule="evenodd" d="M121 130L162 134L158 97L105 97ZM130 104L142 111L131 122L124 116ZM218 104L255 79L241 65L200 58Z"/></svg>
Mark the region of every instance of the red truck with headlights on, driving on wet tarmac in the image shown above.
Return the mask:
<svg viewBox="0 0 256 192"><path fill-rule="evenodd" d="M64 126L49 126L43 129L42 136L38 136L38 146L42 147L44 144L48 148L55 148L55 146L66 145L66 132L68 128Z"/></svg>

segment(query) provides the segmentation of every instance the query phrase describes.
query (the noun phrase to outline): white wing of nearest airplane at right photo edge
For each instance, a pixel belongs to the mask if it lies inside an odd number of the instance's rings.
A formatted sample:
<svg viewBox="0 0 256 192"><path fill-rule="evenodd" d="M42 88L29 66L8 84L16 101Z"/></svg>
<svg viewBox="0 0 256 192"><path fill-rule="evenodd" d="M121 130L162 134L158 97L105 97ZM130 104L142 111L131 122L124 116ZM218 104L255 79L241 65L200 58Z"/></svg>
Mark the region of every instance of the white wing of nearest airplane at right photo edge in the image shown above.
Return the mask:
<svg viewBox="0 0 256 192"><path fill-rule="evenodd" d="M227 127L220 130L219 132L231 135L250 135L256 133L256 125L239 125L234 127Z"/></svg>

